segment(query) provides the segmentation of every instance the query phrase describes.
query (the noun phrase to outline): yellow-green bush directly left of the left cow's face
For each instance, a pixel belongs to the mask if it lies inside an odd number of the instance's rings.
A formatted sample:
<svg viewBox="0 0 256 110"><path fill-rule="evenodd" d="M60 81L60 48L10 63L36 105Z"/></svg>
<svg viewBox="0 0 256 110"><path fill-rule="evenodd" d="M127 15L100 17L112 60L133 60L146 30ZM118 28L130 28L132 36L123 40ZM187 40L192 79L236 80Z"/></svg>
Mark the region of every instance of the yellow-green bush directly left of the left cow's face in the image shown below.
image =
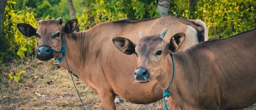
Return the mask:
<svg viewBox="0 0 256 110"><path fill-rule="evenodd" d="M24 11L13 10L12 5L15 1L7 1L4 16L4 37L1 38L3 48L0 50L0 62L6 59L18 59L16 54L23 58L30 55L34 51L36 38L27 38L18 31L18 23L28 23L32 26L38 26L35 14L30 8Z"/></svg>

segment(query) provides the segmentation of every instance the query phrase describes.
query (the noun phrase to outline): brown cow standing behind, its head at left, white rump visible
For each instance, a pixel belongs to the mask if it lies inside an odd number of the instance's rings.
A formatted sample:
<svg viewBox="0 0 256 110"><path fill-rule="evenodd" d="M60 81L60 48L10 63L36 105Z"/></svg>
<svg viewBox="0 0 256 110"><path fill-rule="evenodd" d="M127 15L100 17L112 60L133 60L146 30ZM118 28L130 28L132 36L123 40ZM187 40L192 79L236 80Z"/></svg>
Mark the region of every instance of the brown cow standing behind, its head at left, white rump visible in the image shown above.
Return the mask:
<svg viewBox="0 0 256 110"><path fill-rule="evenodd" d="M62 25L61 19L57 19L57 21L40 21L37 28L20 23L18 29L27 37L37 36L37 58L40 60L61 57L61 53L50 48L60 50L61 38L65 37L67 39L66 57L71 71L99 95L104 108L108 110L115 109L116 95L136 104L153 103L162 98L161 87L155 80L149 84L132 84L134 79L131 73L137 66L136 59L120 53L118 49L112 49L114 48L113 37L127 36L133 41L138 41L139 30L154 34L168 28L172 31L166 33L167 40L175 32L186 33L188 37L181 47L185 49L197 44L198 40L199 42L203 41L202 39L207 40L208 32L202 21L182 19L174 15L141 21L106 22L93 26L87 31L73 32L76 26L75 19L68 21L65 26ZM202 32L204 34L201 34ZM61 65L67 69L65 61L62 61Z"/></svg>

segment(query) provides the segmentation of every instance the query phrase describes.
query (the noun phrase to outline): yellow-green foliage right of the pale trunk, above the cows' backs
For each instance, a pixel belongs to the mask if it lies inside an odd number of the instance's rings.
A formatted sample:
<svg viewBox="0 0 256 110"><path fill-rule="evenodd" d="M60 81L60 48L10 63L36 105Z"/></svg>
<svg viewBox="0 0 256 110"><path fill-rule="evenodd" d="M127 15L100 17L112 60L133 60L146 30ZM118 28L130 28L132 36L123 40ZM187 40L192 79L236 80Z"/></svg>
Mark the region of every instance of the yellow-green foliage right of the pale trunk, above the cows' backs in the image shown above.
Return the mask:
<svg viewBox="0 0 256 110"><path fill-rule="evenodd" d="M195 7L189 6L189 0L172 0L171 5L170 13L204 21L210 38L228 38L256 28L255 0L198 0Z"/></svg>

